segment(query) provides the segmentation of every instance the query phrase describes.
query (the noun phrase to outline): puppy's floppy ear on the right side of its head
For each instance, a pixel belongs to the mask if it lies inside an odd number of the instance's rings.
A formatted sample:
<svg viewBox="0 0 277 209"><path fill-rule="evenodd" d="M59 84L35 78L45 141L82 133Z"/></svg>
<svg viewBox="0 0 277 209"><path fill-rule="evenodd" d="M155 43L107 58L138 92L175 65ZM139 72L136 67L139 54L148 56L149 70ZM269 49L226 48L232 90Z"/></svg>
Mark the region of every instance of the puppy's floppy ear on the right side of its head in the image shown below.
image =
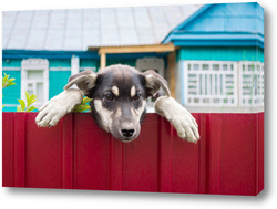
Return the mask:
<svg viewBox="0 0 277 209"><path fill-rule="evenodd" d="M165 79L153 70L148 70L143 73L146 80L146 88L151 96L155 96L160 87L163 88L166 96L171 96L167 82Z"/></svg>

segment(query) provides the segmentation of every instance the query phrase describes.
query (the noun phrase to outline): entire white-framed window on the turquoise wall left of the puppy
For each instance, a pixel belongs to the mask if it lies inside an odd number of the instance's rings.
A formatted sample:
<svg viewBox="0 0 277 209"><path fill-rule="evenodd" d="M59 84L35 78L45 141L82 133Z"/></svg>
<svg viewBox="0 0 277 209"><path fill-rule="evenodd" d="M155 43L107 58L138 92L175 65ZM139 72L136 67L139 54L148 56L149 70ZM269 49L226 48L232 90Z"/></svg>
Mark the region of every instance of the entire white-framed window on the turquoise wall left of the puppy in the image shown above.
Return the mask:
<svg viewBox="0 0 277 209"><path fill-rule="evenodd" d="M21 62L21 98L25 91L37 95L35 107L49 100L49 62L43 59L28 59Z"/></svg>

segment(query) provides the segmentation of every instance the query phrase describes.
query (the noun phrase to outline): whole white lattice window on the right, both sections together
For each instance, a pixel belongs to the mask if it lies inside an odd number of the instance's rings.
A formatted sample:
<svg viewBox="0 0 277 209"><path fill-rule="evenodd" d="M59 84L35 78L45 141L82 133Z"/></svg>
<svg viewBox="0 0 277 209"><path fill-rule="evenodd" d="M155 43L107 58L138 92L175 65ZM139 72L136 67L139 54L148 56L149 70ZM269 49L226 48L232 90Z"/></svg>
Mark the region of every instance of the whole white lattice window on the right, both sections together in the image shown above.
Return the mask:
<svg viewBox="0 0 277 209"><path fill-rule="evenodd" d="M187 106L264 106L264 63L184 61L184 102Z"/></svg>

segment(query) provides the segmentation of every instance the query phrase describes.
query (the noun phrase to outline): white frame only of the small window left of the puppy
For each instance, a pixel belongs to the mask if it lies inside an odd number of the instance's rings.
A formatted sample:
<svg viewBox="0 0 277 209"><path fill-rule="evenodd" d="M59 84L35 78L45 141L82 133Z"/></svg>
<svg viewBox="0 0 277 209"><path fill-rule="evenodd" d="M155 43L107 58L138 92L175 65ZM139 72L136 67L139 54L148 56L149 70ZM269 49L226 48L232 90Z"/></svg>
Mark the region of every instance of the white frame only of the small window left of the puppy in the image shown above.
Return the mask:
<svg viewBox="0 0 277 209"><path fill-rule="evenodd" d="M43 97L42 101L37 101L33 105L40 107L49 100L49 61L47 59L27 59L21 62L21 92L20 97L25 101L25 91L28 88L28 71L43 71ZM35 83L38 81L33 81ZM37 95L35 88L33 92Z"/></svg>

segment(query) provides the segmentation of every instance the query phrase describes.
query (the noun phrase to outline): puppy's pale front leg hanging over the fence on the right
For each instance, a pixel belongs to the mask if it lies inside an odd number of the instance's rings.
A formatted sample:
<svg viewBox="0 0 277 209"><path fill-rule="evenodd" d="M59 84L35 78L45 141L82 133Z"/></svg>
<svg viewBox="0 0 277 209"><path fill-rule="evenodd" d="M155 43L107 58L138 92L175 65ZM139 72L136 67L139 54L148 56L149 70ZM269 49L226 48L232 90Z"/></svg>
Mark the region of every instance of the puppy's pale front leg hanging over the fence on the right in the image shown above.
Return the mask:
<svg viewBox="0 0 277 209"><path fill-rule="evenodd" d="M155 112L165 117L177 130L181 138L197 143L199 139L198 125L191 113L173 97L161 96L155 102Z"/></svg>

